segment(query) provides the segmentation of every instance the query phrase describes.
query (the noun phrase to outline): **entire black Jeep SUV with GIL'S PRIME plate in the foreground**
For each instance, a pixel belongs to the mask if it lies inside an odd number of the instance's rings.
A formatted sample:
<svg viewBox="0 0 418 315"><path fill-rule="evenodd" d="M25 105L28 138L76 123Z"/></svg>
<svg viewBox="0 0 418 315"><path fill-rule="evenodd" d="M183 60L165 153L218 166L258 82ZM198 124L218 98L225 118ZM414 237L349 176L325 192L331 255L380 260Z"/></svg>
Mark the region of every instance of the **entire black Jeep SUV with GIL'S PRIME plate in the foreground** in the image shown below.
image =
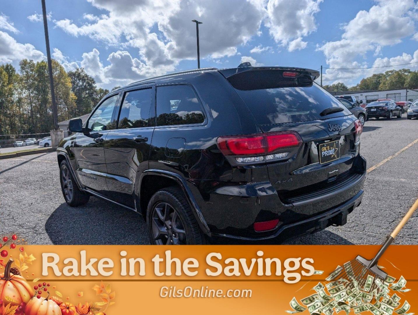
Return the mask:
<svg viewBox="0 0 418 315"><path fill-rule="evenodd" d="M278 242L343 225L362 200L362 125L318 76L247 64L114 90L59 144L65 200L138 211L152 244Z"/></svg>

